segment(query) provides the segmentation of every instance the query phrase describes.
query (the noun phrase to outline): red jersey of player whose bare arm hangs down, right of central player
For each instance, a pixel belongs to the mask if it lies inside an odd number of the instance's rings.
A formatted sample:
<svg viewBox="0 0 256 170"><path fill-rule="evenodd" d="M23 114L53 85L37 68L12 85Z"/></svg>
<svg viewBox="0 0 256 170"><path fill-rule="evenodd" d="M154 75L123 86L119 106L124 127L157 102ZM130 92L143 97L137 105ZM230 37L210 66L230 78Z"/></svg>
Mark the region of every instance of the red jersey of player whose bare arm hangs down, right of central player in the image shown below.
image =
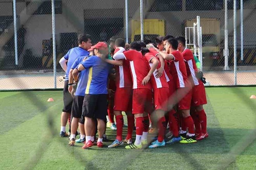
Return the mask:
<svg viewBox="0 0 256 170"><path fill-rule="evenodd" d="M149 62L149 70L150 70L150 68L152 67L152 63L150 63L150 60L152 59L152 58L156 58L155 56L154 56L154 54L152 54L152 53L146 53L145 54L145 58L147 59L147 61ZM159 60L158 58L156 58L157 60ZM161 64L159 63L158 64L158 66L157 66L157 68L156 68L156 70L154 71L154 73L152 74L152 76L150 77L150 82L151 82L151 85L152 85L152 88L153 88L153 90L155 91L157 88L162 88L162 87L167 87L167 88L169 88L169 85L168 85L168 83L167 83L167 81L166 81L166 78L165 78L165 73L163 73L164 75L162 75L161 77L159 77L159 78L156 78L156 71L157 71L157 69L158 68L160 68L161 67Z"/></svg>

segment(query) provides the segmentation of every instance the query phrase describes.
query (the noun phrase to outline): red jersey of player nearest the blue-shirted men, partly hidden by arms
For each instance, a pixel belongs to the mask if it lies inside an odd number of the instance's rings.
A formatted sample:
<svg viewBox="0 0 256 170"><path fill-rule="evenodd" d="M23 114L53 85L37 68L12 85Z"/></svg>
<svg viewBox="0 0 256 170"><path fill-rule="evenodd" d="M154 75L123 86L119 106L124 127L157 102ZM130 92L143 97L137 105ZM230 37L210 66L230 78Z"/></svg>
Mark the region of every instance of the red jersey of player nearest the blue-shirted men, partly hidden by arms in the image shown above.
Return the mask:
<svg viewBox="0 0 256 170"><path fill-rule="evenodd" d="M116 53L123 53L124 48L118 47ZM123 59L123 66L116 66L116 88L132 87L132 79L130 73L130 62Z"/></svg>

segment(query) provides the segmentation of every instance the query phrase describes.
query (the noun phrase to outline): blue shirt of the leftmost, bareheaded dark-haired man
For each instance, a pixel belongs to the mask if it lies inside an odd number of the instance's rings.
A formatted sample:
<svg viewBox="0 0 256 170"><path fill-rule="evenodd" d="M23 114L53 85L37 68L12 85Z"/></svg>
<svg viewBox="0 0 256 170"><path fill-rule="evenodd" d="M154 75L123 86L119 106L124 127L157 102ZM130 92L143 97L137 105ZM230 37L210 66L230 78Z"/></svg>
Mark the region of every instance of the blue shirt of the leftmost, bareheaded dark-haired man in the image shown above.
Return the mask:
<svg viewBox="0 0 256 170"><path fill-rule="evenodd" d="M64 56L64 58L67 60L67 71L66 71L65 80L68 80L68 75L69 75L70 68L73 65L76 58L81 57L81 56L87 56L89 54L90 53L87 50L85 50L81 47L71 48L67 52L67 54Z"/></svg>

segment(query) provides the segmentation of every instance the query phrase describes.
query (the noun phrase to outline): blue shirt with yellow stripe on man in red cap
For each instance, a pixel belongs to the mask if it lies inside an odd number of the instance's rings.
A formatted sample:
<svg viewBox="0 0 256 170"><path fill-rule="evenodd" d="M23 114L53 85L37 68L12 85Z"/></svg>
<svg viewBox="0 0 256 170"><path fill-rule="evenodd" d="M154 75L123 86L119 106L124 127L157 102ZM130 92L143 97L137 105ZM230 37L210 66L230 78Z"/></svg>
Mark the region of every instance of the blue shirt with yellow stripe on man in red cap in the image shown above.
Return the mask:
<svg viewBox="0 0 256 170"><path fill-rule="evenodd" d="M112 65L98 56L90 56L81 64L89 71L85 94L107 94L107 77Z"/></svg>

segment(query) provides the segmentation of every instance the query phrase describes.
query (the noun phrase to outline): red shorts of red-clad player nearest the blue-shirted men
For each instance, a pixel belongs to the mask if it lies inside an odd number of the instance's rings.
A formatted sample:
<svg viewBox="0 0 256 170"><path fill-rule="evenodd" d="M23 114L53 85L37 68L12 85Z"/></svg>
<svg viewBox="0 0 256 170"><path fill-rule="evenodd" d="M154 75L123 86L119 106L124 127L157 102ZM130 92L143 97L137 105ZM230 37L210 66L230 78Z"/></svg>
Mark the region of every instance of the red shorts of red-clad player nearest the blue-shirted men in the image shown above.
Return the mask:
<svg viewBox="0 0 256 170"><path fill-rule="evenodd" d="M132 110L132 87L116 88L114 97L114 110Z"/></svg>

